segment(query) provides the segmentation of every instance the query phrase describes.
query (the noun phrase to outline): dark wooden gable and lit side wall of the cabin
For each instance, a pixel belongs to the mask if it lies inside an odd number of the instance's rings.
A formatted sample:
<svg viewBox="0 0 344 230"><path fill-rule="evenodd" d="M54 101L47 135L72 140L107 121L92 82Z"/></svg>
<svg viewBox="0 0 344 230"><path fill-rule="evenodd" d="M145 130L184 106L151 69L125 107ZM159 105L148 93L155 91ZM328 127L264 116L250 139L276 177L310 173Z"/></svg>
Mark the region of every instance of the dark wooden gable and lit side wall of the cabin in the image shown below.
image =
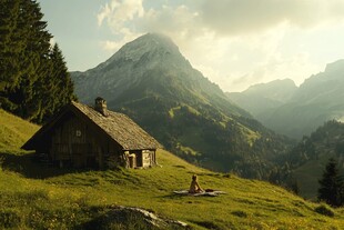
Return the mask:
<svg viewBox="0 0 344 230"><path fill-rule="evenodd" d="M129 167L129 159L125 159L128 154L135 154L134 167L146 168L156 164L155 150L124 151L95 124L87 119L77 118L72 112L60 120L49 136L49 157L60 167Z"/></svg>

